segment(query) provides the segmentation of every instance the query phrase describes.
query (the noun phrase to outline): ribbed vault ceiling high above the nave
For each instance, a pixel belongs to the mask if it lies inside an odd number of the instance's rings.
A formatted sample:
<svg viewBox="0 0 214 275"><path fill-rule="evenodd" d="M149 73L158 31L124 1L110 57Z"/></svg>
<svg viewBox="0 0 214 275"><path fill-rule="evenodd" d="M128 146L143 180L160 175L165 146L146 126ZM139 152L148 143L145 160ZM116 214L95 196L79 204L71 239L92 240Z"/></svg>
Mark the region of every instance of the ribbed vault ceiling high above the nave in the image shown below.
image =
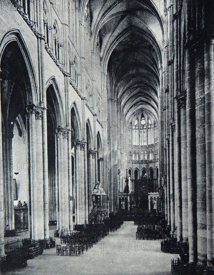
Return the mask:
<svg viewBox="0 0 214 275"><path fill-rule="evenodd" d="M123 120L143 110L158 120L163 9L152 0L89 0L92 41L99 39L108 96Z"/></svg>

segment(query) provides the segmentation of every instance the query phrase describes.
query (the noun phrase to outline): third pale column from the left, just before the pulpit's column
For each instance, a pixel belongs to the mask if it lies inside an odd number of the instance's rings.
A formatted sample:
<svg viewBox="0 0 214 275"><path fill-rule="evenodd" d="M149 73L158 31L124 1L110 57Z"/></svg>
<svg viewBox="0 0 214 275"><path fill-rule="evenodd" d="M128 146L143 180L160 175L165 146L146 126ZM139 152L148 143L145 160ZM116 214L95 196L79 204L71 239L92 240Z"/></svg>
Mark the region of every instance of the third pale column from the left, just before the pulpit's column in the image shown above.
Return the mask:
<svg viewBox="0 0 214 275"><path fill-rule="evenodd" d="M76 142L77 223L85 223L85 142Z"/></svg>

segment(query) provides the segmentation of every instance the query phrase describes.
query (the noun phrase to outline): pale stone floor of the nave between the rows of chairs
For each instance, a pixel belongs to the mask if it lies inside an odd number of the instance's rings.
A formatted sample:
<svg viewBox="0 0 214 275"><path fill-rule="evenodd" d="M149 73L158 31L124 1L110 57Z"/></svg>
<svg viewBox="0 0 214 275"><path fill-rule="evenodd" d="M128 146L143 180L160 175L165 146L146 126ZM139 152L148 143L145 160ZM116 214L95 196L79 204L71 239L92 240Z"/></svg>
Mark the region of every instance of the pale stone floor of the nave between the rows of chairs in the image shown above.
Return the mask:
<svg viewBox="0 0 214 275"><path fill-rule="evenodd" d="M121 228L110 232L81 256L57 256L52 248L28 260L26 268L5 274L170 274L171 258L178 255L161 252L159 240L136 240L136 229L133 221L125 221Z"/></svg>

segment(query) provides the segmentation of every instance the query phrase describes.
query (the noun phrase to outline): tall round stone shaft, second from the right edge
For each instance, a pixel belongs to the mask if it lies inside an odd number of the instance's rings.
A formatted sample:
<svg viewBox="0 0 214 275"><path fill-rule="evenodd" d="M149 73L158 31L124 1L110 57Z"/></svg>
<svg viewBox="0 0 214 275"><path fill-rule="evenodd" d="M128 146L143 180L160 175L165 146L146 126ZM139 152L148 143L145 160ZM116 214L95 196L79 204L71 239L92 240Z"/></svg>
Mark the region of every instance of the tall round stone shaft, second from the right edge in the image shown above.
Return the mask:
<svg viewBox="0 0 214 275"><path fill-rule="evenodd" d="M206 144L204 53L199 44L195 58L195 131L196 131L196 192L197 192L197 261L206 263Z"/></svg>

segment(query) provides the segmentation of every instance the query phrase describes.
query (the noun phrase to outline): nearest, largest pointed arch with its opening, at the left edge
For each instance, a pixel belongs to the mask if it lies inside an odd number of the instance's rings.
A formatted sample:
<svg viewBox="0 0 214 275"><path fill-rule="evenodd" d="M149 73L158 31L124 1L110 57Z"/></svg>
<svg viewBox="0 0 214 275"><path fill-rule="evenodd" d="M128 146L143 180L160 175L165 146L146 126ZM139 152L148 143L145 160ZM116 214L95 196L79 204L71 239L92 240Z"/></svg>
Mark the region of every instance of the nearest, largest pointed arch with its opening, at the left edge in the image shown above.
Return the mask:
<svg viewBox="0 0 214 275"><path fill-rule="evenodd" d="M20 189L24 189L17 195L18 199L30 201L29 195L29 155L27 146L30 139L26 138L30 134L29 118L26 108L37 104L39 101L39 93L36 92L35 74L31 62L31 58L26 44L18 30L10 30L7 32L0 43L0 66L1 66L1 149L4 165L2 172L4 197L5 197L5 229L14 229L14 167L18 161L25 162L26 167L20 169L20 178L24 185L19 183ZM20 138L21 137L21 138ZM19 150L20 149L20 150ZM25 173L25 174L24 174ZM22 176L21 176L22 174ZM16 174L17 175L17 174ZM15 178L16 179L16 178ZM22 180L21 180L22 181ZM7 199L6 199L7 198Z"/></svg>

